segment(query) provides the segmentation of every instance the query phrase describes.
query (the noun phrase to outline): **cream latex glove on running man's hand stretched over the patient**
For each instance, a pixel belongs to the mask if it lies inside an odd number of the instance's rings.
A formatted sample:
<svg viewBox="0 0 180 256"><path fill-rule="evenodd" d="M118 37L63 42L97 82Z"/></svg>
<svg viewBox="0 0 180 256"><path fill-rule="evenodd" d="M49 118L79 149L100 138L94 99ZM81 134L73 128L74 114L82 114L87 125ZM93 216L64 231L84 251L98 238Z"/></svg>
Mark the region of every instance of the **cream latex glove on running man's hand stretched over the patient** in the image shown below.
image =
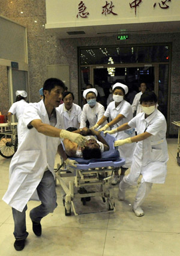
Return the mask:
<svg viewBox="0 0 180 256"><path fill-rule="evenodd" d="M70 141L76 142L80 147L84 147L88 143L87 139L79 133L68 132L67 130L61 130L59 137L63 139L70 139Z"/></svg>

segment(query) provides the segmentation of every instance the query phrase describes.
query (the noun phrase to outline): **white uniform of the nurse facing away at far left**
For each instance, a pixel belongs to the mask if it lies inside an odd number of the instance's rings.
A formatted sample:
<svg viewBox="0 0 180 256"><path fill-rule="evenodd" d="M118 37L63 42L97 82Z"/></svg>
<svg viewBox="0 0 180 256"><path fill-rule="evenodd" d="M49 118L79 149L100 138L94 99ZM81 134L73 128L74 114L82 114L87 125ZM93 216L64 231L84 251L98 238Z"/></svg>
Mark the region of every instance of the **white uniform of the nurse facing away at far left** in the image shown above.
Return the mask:
<svg viewBox="0 0 180 256"><path fill-rule="evenodd" d="M17 137L18 137L18 144L22 142L23 138L23 130L22 130L22 115L23 112L28 105L25 100L19 100L19 102L14 102L8 112L12 113L13 115L16 114L18 123L17 123Z"/></svg>

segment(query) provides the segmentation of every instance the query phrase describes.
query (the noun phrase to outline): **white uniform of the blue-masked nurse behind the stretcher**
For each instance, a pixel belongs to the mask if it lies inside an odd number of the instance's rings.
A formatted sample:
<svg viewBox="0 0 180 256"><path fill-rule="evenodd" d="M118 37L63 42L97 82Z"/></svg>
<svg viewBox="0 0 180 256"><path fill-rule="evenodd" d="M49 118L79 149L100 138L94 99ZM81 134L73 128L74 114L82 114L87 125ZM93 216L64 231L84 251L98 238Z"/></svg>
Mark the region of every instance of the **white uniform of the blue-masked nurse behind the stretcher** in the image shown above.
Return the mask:
<svg viewBox="0 0 180 256"><path fill-rule="evenodd" d="M85 104L80 117L80 128L86 127L87 120L89 121L89 128L91 128L101 119L101 117L103 117L103 115L104 106L100 103L96 102L94 108L91 108L88 103ZM102 126L100 126L100 128L101 127Z"/></svg>

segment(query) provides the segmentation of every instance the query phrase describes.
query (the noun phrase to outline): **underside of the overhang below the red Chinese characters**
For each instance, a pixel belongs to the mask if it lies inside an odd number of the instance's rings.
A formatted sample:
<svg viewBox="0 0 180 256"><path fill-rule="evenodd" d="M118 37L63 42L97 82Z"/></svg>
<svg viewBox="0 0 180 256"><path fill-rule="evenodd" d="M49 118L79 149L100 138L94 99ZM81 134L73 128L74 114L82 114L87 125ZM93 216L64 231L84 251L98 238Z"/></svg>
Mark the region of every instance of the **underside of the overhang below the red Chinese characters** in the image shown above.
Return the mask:
<svg viewBox="0 0 180 256"><path fill-rule="evenodd" d="M180 32L180 21L133 23L103 26L47 29L59 38L99 37L119 34L154 34Z"/></svg>

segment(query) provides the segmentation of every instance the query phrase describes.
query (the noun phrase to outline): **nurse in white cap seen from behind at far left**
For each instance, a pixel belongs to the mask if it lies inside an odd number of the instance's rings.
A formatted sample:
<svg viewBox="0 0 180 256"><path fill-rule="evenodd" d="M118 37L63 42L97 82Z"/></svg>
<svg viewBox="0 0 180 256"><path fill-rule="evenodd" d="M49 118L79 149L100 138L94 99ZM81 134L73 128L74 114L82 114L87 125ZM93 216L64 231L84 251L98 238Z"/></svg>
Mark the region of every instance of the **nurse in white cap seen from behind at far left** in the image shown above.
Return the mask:
<svg viewBox="0 0 180 256"><path fill-rule="evenodd" d="M17 117L17 138L18 144L23 140L23 129L22 129L22 115L25 110L25 107L28 105L26 102L27 93L24 90L16 91L16 102L13 103L11 108L8 111L8 125L11 125L11 115L15 115Z"/></svg>

